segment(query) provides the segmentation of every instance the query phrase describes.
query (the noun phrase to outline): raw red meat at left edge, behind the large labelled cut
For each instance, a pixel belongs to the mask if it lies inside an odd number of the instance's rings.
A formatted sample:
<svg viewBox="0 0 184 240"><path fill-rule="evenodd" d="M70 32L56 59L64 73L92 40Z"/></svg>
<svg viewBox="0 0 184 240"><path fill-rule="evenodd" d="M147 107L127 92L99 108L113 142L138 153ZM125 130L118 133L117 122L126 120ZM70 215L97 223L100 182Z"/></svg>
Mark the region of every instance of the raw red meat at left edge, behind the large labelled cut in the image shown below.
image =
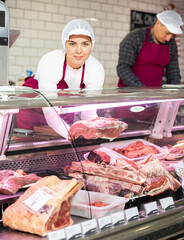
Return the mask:
<svg viewBox="0 0 184 240"><path fill-rule="evenodd" d="M35 183L40 179L36 174L26 174L23 170L0 171L0 193L12 195L20 188Z"/></svg>

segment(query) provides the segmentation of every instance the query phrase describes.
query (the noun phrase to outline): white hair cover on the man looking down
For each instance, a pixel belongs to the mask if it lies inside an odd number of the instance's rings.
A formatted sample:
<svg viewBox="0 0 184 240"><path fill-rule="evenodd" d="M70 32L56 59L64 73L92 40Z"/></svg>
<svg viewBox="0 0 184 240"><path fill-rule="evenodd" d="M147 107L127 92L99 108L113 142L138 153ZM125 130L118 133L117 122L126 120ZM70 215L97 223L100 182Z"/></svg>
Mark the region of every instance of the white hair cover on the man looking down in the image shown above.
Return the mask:
<svg viewBox="0 0 184 240"><path fill-rule="evenodd" d="M158 20L173 34L182 34L182 18L173 10L166 10L157 14Z"/></svg>

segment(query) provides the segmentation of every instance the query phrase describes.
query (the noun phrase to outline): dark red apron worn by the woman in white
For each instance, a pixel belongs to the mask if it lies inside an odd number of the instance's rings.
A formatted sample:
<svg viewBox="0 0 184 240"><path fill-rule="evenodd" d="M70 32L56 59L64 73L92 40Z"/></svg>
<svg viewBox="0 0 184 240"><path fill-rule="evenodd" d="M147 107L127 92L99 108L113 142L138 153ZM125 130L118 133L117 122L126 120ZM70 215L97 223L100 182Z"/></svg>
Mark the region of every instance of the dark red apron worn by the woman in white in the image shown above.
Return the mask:
<svg viewBox="0 0 184 240"><path fill-rule="evenodd" d="M65 74L66 74L66 57L63 64L63 76L62 79L57 84L57 89L67 89L68 85L65 82ZM81 83L80 88L85 88L84 84L84 72L85 72L85 64L82 68L82 76L81 76ZM28 77L25 79L25 83L22 86L31 87L33 89L38 89L38 81L34 79L34 76ZM33 97L32 94L25 94L25 97ZM73 122L74 113L70 114L63 114L62 118L67 122ZM43 126L47 125L46 119L43 115L43 111L41 108L34 108L34 109L20 109L19 113L17 114L17 127L23 129L30 129L33 130L34 126Z"/></svg>

